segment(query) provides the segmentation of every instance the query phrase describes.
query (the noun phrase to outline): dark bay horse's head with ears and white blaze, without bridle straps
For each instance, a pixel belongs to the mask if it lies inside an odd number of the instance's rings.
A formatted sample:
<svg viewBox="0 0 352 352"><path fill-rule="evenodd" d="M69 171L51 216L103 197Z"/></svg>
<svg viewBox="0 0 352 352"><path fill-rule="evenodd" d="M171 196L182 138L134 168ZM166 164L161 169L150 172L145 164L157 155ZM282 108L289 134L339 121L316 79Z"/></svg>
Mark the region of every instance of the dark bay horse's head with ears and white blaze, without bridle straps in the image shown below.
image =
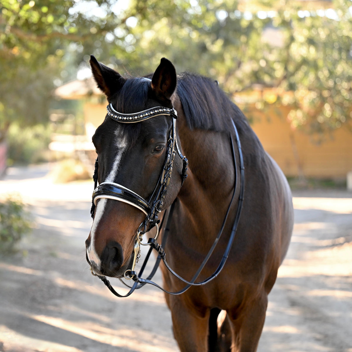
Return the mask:
<svg viewBox="0 0 352 352"><path fill-rule="evenodd" d="M98 87L107 96L110 111L134 114L131 116L136 119L134 123L122 123L110 112L97 128L92 140L98 153L98 182L105 182L107 187L118 184L119 192L122 189L123 193L125 187L152 202L158 184L163 181L173 117L161 112L138 121L140 115L137 118L136 114L160 106L171 111L176 89L175 68L163 58L151 80L125 79L94 56L90 64ZM176 198L181 172L182 161L176 157L163 206L158 210L165 209ZM126 198L117 201L106 193L95 199L93 225L86 240L87 261L97 274L122 277L131 268L137 229L149 210L136 207Z"/></svg>

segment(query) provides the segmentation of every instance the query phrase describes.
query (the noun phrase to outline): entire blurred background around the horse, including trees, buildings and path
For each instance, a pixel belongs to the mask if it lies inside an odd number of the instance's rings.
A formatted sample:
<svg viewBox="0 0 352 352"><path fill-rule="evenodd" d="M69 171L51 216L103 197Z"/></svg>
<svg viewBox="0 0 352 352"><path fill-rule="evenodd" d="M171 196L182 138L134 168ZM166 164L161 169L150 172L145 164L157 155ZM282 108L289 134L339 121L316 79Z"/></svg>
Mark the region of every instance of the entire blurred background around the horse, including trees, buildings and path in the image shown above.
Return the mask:
<svg viewBox="0 0 352 352"><path fill-rule="evenodd" d="M84 263L91 137L106 114L91 54L134 76L166 57L178 73L217 80L243 109L295 196L259 350L352 351L351 17L351 0L1 0L0 351L177 348L160 293L117 305ZM321 312L317 297L333 308ZM145 303L161 304L153 327L130 311ZM145 333L138 346L134 328Z"/></svg>

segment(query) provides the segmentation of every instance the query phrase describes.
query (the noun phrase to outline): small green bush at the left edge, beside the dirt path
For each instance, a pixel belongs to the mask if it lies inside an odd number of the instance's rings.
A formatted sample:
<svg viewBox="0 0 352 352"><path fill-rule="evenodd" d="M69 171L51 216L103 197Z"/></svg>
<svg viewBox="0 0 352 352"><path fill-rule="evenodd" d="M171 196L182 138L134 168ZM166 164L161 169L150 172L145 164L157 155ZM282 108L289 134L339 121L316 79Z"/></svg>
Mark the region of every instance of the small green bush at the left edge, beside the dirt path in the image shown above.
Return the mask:
<svg viewBox="0 0 352 352"><path fill-rule="evenodd" d="M20 200L0 202L0 252L13 251L14 245L31 230L31 216Z"/></svg>

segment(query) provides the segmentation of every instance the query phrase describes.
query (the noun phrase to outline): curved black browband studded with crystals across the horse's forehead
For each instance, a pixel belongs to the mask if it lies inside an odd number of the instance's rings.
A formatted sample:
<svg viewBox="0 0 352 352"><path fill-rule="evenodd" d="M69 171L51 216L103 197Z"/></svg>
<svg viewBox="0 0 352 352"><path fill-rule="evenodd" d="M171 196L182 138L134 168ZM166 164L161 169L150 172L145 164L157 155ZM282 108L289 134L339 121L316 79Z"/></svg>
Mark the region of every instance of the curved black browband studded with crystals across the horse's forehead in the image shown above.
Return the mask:
<svg viewBox="0 0 352 352"><path fill-rule="evenodd" d="M163 106L156 106L151 109L140 111L136 114L121 114L112 107L111 103L106 107L106 109L108 115L113 120L125 123L144 121L158 115L170 115L175 119L177 118L177 111L175 109L165 108Z"/></svg>

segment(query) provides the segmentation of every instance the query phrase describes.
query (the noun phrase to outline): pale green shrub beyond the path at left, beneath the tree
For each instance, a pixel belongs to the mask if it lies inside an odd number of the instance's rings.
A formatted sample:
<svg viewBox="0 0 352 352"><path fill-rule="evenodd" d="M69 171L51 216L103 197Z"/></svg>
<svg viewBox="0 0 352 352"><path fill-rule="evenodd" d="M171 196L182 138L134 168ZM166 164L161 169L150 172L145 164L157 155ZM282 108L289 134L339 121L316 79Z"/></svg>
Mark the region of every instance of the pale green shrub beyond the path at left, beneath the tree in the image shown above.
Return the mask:
<svg viewBox="0 0 352 352"><path fill-rule="evenodd" d="M20 128L12 124L8 131L8 162L33 164L46 161L50 130L44 125Z"/></svg>

